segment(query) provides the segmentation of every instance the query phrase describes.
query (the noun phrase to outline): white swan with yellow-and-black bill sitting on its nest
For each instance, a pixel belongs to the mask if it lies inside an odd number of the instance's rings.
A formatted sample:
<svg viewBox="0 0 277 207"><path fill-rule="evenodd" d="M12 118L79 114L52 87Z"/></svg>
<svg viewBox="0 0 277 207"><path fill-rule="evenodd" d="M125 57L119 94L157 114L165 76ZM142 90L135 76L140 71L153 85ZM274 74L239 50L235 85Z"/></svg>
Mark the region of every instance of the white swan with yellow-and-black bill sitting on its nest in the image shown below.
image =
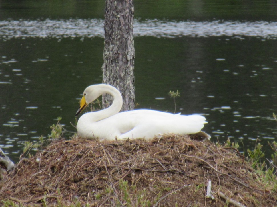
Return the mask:
<svg viewBox="0 0 277 207"><path fill-rule="evenodd" d="M205 138L210 136L200 130L206 118L200 115L180 115L156 110L138 109L120 112L122 107L121 93L113 86L97 84L88 86L80 101L75 116L99 96L110 94L113 103L108 108L83 114L77 122L77 131L81 137L115 139L150 139L162 134L197 134Z"/></svg>

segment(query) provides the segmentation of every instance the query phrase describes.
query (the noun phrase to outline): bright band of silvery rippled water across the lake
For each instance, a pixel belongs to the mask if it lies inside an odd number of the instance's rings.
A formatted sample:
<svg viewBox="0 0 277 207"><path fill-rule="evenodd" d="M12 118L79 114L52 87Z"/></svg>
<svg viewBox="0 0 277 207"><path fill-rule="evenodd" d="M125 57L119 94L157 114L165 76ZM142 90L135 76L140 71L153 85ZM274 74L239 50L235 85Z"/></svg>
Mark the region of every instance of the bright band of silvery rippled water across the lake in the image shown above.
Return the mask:
<svg viewBox="0 0 277 207"><path fill-rule="evenodd" d="M75 38L104 37L102 19L68 20L6 20L0 21L0 37L9 38ZM160 20L134 21L134 36L178 37L178 36L259 36L277 37L277 22L255 21L178 21ZM220 60L220 59L219 59Z"/></svg>

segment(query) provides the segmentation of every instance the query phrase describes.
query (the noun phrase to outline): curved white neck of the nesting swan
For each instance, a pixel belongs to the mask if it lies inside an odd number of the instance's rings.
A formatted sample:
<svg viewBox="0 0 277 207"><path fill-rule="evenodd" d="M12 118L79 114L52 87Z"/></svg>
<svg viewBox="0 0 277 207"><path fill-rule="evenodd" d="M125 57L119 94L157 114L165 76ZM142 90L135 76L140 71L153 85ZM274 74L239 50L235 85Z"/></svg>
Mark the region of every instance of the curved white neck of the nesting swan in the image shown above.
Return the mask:
<svg viewBox="0 0 277 207"><path fill-rule="evenodd" d="M117 114L122 107L122 96L115 87L105 84L99 84L96 86L97 91L99 92L99 96L103 94L109 94L113 97L113 103L111 104L111 106L101 111L91 112L90 114L92 114L91 116L93 117L94 122Z"/></svg>

